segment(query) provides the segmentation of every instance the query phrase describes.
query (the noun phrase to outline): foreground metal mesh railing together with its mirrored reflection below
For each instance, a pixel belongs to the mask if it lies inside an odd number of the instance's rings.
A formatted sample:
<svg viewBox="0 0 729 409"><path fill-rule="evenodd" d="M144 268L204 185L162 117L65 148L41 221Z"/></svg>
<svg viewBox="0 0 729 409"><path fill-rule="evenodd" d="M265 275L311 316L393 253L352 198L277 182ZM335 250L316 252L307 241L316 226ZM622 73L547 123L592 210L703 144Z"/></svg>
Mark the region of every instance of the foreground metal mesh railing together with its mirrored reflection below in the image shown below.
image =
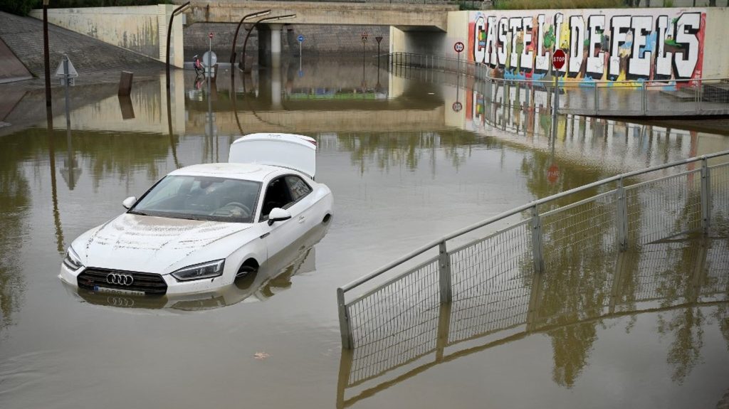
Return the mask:
<svg viewBox="0 0 729 409"><path fill-rule="evenodd" d="M703 161L716 156L720 155L704 156ZM522 325L529 333L656 304L668 307L725 298L728 241L705 236L697 241L692 233L701 231L706 210L712 234L729 231L729 164L708 167L710 201L702 202L706 198L702 185L707 187L701 178L702 163L706 162L675 162L540 199L421 247L340 288L340 314L346 316L340 325L343 335L351 335L351 343L344 337L343 343L354 347L346 386L364 384L400 367L406 371L395 372L396 376L407 378L417 372L413 366L433 352L437 363L447 347L451 351L463 341L470 345L476 338L518 333ZM669 169L678 166L688 171L671 174ZM558 199L579 192L584 197L590 189L608 188L608 183L624 186L627 180L641 181L556 207ZM448 250L443 253L448 262L431 258L353 301L344 301L344 291L393 266L438 247L443 252L448 242L465 234L540 207L556 208L541 213L539 223L537 218L526 218ZM627 249L619 246L623 239ZM541 248L534 247L536 243ZM627 251L618 251L619 247ZM544 263L535 265L540 255ZM540 265L542 269L535 269Z"/></svg>

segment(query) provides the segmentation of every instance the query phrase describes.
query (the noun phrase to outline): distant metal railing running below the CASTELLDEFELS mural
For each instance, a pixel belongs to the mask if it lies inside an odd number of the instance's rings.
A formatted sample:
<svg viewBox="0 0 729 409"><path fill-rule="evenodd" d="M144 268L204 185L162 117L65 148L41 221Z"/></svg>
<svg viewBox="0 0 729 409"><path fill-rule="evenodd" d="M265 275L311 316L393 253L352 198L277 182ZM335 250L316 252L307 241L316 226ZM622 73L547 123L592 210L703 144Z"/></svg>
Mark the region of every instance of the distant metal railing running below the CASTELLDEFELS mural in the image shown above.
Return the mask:
<svg viewBox="0 0 729 409"><path fill-rule="evenodd" d="M495 92L508 92L518 87L529 102L539 99L527 90L546 92L549 98L555 85L549 79L504 79L489 76L488 65L473 61L437 55L421 55L395 52L381 55L387 58L391 70L422 68L463 74L481 82L485 91L496 99ZM496 84L496 86L494 86ZM561 114L593 116L695 116L729 115L729 79L670 79L666 81L590 81L571 82L560 80ZM505 98L504 98L505 99ZM548 105L548 104L547 104ZM545 107L545 108L548 108Z"/></svg>

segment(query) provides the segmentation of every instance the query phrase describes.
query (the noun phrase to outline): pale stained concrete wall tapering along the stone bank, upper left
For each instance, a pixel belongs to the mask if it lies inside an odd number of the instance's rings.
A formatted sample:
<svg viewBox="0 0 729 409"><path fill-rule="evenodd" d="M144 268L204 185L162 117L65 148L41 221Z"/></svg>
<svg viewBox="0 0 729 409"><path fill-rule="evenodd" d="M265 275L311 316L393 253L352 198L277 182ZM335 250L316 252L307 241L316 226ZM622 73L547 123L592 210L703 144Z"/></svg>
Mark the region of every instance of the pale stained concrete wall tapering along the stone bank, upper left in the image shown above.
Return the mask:
<svg viewBox="0 0 729 409"><path fill-rule="evenodd" d="M173 4L159 4L140 7L49 9L48 21L107 44L164 61L167 23L175 7ZM42 19L42 10L32 10L31 16ZM176 17L171 39L170 61L178 67L182 67L184 63L183 22L184 16ZM176 53L176 48L179 48L180 52Z"/></svg>

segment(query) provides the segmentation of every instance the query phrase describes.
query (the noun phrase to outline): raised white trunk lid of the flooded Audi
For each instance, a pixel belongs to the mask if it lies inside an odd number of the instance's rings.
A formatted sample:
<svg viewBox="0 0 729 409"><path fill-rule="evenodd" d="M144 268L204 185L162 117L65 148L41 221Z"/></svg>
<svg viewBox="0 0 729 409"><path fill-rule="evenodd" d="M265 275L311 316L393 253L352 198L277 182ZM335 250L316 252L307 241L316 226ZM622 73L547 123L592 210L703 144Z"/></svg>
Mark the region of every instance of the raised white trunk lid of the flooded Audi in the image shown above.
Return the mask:
<svg viewBox="0 0 729 409"><path fill-rule="evenodd" d="M313 178L316 172L316 140L291 133L254 133L233 142L228 162L286 167Z"/></svg>

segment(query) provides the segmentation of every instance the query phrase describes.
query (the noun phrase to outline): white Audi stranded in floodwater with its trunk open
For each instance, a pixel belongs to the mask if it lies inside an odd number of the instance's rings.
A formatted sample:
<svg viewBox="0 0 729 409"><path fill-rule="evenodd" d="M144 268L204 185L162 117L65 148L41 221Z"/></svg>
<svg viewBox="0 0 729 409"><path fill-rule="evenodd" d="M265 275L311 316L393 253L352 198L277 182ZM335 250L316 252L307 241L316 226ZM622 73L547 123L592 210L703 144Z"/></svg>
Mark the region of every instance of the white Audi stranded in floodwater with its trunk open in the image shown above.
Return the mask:
<svg viewBox="0 0 729 409"><path fill-rule="evenodd" d="M130 295L219 290L329 221L332 192L315 170L312 138L239 138L227 163L175 170L125 199L126 213L71 243L59 277Z"/></svg>

